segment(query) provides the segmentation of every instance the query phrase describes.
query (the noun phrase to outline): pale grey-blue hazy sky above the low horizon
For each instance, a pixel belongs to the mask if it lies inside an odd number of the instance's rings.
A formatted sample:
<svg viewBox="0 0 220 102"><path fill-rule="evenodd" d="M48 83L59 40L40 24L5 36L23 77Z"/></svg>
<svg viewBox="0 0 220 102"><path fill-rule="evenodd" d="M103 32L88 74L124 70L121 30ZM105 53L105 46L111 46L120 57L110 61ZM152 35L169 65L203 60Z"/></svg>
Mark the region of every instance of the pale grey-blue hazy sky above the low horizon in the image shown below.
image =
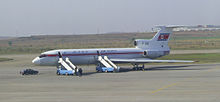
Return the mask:
<svg viewBox="0 0 220 102"><path fill-rule="evenodd" d="M0 36L145 32L220 25L220 0L0 0Z"/></svg>

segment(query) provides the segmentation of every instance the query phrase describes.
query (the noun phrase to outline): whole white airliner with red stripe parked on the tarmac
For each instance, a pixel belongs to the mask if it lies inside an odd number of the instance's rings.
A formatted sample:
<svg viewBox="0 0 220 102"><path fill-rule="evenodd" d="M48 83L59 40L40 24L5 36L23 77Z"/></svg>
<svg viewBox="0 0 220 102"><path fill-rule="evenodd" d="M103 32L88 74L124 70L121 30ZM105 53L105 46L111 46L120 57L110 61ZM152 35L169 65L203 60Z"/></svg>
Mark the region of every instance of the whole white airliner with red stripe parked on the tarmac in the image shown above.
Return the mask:
<svg viewBox="0 0 220 102"><path fill-rule="evenodd" d="M114 63L131 63L134 68L139 64L162 63L162 62L184 62L187 60L157 60L156 58L166 56L170 53L168 41L174 28L182 26L156 26L160 30L152 39L136 39L135 48L96 48L96 49L58 49L41 53L32 63L41 66L58 66L59 58L68 58L74 65L88 65L101 63L104 66L113 66L119 71ZM104 58L103 58L104 57ZM107 63L107 64L106 64Z"/></svg>

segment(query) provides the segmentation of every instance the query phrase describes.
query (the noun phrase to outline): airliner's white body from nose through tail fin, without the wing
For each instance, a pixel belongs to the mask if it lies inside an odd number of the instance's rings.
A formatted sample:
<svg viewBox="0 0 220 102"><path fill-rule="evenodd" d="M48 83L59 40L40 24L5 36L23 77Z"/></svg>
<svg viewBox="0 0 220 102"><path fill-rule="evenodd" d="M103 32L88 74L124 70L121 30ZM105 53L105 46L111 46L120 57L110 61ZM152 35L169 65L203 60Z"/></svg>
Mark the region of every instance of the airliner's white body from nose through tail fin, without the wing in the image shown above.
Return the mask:
<svg viewBox="0 0 220 102"><path fill-rule="evenodd" d="M150 40L136 39L136 48L61 49L42 53L32 62L37 65L58 65L58 52L75 64L97 64L98 56L109 59L158 58L169 54L168 41L172 27L160 26L161 30ZM146 59L145 59L146 60ZM119 62L118 62L119 63Z"/></svg>

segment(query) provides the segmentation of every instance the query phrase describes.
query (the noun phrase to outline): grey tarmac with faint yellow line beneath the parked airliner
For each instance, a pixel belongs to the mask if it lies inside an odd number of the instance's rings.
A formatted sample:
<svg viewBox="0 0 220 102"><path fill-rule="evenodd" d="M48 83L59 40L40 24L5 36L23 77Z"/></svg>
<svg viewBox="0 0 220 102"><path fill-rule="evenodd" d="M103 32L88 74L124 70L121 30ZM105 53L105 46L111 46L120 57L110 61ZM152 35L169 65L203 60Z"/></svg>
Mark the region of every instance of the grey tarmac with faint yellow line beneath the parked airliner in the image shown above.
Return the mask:
<svg viewBox="0 0 220 102"><path fill-rule="evenodd" d="M121 66L120 73L96 73L81 66L82 77L57 76L55 67L34 66L37 55L1 55L1 102L219 102L220 63L145 65L145 71ZM22 76L32 68L39 75Z"/></svg>

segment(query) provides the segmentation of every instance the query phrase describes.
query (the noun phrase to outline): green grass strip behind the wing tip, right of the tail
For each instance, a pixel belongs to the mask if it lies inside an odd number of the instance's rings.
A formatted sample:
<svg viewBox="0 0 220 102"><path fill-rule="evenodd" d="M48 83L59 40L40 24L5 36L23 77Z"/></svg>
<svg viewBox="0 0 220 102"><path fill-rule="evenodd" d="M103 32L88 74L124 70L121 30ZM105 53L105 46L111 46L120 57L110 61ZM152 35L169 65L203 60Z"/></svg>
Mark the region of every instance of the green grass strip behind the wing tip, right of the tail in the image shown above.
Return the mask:
<svg viewBox="0 0 220 102"><path fill-rule="evenodd" d="M192 60L196 63L219 63L220 53L173 54L159 58L161 60Z"/></svg>

